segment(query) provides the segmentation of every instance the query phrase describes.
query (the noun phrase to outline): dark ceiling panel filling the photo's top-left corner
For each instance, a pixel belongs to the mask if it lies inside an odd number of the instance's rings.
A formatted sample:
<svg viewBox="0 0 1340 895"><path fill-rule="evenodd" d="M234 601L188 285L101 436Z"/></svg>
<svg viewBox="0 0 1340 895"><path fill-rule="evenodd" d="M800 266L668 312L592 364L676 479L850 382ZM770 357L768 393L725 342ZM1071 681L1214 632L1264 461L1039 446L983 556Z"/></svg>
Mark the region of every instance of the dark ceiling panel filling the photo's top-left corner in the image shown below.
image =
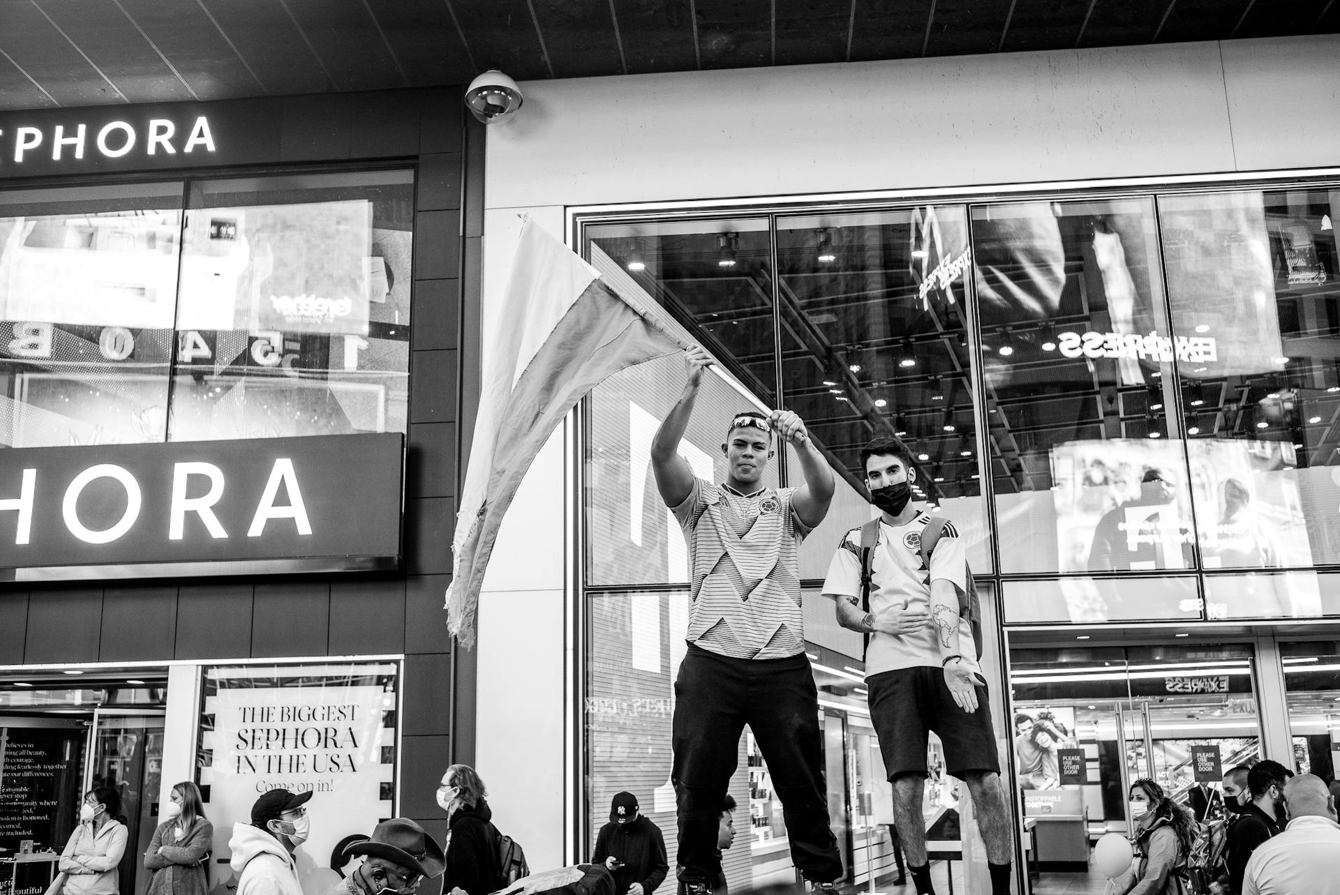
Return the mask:
<svg viewBox="0 0 1340 895"><path fill-rule="evenodd" d="M0 50L62 106L125 102L56 27L28 3L0 7Z"/></svg>

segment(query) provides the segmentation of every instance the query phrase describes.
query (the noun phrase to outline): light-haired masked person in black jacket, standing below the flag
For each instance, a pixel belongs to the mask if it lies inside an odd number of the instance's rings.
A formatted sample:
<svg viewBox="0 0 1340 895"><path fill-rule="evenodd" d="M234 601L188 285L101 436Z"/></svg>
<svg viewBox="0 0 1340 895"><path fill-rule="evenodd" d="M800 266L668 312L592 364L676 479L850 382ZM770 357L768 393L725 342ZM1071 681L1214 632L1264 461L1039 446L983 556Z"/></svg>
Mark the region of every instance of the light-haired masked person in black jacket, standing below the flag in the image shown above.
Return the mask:
<svg viewBox="0 0 1340 895"><path fill-rule="evenodd" d="M452 765L437 788L437 804L446 812L446 872L442 891L489 895L500 886L498 832L485 800L484 781L469 765Z"/></svg>

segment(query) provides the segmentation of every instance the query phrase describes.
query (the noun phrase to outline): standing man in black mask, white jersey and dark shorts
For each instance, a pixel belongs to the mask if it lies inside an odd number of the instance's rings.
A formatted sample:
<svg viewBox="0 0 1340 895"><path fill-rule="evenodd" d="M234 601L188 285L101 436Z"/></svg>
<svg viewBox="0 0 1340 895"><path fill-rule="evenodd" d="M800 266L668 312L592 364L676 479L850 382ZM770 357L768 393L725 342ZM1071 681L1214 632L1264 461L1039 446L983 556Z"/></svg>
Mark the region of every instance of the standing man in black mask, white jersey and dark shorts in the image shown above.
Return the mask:
<svg viewBox="0 0 1340 895"><path fill-rule="evenodd" d="M838 623L867 638L870 719L894 789L894 823L918 895L934 892L922 797L934 730L945 770L967 784L986 844L992 894L1010 891L1010 821L982 677L981 615L954 524L911 502L913 453L898 438L860 452L880 516L843 536L823 594Z"/></svg>

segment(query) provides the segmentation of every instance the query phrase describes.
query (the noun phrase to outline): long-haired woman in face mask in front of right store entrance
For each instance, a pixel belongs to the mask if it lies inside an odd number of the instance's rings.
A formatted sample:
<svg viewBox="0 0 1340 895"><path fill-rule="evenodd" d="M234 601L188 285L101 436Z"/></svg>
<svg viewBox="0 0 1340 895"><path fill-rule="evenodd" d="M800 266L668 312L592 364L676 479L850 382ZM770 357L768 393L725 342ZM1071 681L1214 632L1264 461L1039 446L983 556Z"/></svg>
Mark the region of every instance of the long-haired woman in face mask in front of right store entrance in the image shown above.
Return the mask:
<svg viewBox="0 0 1340 895"><path fill-rule="evenodd" d="M1114 895L1183 895L1195 819L1152 780L1131 784L1135 860L1114 882Z"/></svg>

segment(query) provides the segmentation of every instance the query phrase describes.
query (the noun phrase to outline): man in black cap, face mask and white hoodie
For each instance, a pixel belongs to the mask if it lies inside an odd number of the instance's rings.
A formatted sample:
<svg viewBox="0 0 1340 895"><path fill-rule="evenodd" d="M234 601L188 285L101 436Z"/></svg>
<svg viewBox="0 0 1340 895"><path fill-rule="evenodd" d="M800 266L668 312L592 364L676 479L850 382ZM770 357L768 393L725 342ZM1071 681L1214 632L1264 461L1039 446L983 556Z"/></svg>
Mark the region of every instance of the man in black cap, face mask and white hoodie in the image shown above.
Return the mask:
<svg viewBox="0 0 1340 895"><path fill-rule="evenodd" d="M228 849L237 874L236 895L303 895L293 849L307 841L310 821L303 805L311 792L271 789L252 805L249 824L233 824Z"/></svg>

